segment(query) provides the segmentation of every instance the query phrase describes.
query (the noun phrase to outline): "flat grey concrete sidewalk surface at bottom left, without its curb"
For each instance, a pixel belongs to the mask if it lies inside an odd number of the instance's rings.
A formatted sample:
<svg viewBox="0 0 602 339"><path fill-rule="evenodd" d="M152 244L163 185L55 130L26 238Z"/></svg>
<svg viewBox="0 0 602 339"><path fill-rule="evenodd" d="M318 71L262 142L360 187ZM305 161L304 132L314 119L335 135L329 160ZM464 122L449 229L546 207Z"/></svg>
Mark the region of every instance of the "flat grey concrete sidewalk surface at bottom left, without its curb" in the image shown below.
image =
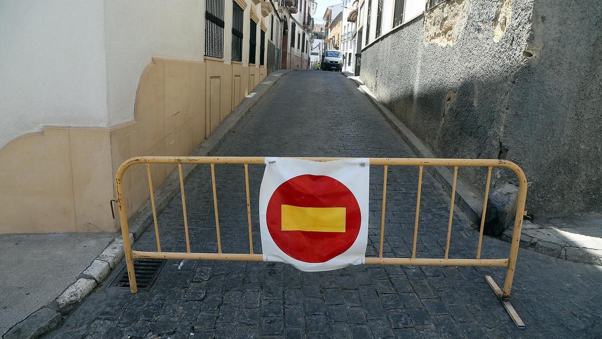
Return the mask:
<svg viewBox="0 0 602 339"><path fill-rule="evenodd" d="M117 233L0 235L0 335L51 303Z"/></svg>

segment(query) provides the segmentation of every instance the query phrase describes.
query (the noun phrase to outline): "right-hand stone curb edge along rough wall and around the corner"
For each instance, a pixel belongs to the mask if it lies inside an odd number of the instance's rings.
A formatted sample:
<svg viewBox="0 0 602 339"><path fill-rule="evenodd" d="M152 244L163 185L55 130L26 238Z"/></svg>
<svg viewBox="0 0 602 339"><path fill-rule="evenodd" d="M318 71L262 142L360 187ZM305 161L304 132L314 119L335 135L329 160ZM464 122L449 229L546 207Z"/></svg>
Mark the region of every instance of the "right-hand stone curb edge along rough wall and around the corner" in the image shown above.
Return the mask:
<svg viewBox="0 0 602 339"><path fill-rule="evenodd" d="M368 89L365 84L361 81L358 81L354 78L350 78L349 75L343 72L343 75L349 80L354 81L359 90L366 95L366 97L374 104L374 106L382 113L385 119L395 128L399 134L402 136L402 139L409 145L409 147L417 154L419 157L436 157L423 142L418 139L402 121L397 118L389 109L387 109L383 104L381 104L374 94ZM452 194L452 180L453 175L450 170L447 168L439 168L439 167L430 167L428 168L429 172L433 174L435 179L447 191L449 194ZM473 221L473 227L478 229L480 223L480 215L483 211L481 198L478 198L468 186L464 185L460 179L456 180L456 203L462 209L462 212L467 214L468 218ZM532 225L533 227L529 227L527 225ZM530 223L530 221L525 220L523 222L523 229L529 228L537 228L541 226L537 226L537 224ZM507 229L502 233L497 239L512 242L512 229ZM563 259L571 262L579 262L582 264L591 264L602 266L602 250L585 250L581 247L572 247L572 246L561 246L559 244L554 244L553 242L547 242L542 239L536 238L535 236L526 235L521 233L521 241L520 247L525 249L530 249L535 252L541 253L543 255L551 256L554 258ZM596 254L597 253L597 254Z"/></svg>

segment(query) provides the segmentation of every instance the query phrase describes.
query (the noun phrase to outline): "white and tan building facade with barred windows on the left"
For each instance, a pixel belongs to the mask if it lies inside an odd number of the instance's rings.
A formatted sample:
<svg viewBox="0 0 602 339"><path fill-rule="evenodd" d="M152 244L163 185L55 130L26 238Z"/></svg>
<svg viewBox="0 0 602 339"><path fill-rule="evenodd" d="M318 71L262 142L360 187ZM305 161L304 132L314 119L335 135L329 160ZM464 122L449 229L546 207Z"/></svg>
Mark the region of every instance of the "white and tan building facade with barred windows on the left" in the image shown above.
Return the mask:
<svg viewBox="0 0 602 339"><path fill-rule="evenodd" d="M3 4L0 233L117 230L110 200L124 160L190 154L282 66L278 5ZM155 189L173 169L152 166ZM146 168L128 172L131 215L149 187Z"/></svg>

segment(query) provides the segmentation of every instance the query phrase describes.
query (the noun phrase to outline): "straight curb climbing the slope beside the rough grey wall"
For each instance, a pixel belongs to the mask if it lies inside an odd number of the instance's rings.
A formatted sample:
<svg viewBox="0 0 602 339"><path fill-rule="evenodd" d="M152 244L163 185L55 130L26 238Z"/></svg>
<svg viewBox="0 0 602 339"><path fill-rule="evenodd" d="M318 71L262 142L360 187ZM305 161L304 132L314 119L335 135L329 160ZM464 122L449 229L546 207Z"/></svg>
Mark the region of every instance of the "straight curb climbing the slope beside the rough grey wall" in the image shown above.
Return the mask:
<svg viewBox="0 0 602 339"><path fill-rule="evenodd" d="M345 74L345 72L342 74L358 85L359 90L364 93L368 100L370 100L371 103L376 107L376 109L382 113L386 121L388 121L389 124L391 124L395 130L397 130L403 141L408 144L411 150L414 151L418 157L436 157L435 154L433 154L432 151L430 151L429 148L427 148L426 145L424 145L423 142L420 141L420 139L418 139L418 137L414 135L414 133L412 133L412 131L409 130L409 128L406 127L402 121L400 121L389 109L383 106L383 104L381 104L376 97L374 97L374 94L370 92L370 89L368 89L364 83L357 79L350 78L349 75ZM441 183L441 186L443 186L445 191L447 191L449 194L452 194L452 171L448 170L447 168L440 168L436 166L428 166L426 170L429 171L429 173L432 174L439 183ZM472 226L477 228L481 220L481 212L483 211L482 199L477 197L477 195L468 189L468 186L465 185L460 179L456 180L456 204L473 222Z"/></svg>

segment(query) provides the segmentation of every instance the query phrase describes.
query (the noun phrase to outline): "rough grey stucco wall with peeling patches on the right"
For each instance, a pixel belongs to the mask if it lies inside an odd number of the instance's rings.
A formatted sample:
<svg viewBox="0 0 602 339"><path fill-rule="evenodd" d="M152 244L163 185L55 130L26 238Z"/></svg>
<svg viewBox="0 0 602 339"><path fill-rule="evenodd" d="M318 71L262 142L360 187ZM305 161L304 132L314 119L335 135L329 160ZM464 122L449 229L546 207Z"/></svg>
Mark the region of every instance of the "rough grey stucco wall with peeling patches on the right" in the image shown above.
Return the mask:
<svg viewBox="0 0 602 339"><path fill-rule="evenodd" d="M437 156L517 162L536 217L600 212L601 21L598 0L447 1L364 49L361 78Z"/></svg>

